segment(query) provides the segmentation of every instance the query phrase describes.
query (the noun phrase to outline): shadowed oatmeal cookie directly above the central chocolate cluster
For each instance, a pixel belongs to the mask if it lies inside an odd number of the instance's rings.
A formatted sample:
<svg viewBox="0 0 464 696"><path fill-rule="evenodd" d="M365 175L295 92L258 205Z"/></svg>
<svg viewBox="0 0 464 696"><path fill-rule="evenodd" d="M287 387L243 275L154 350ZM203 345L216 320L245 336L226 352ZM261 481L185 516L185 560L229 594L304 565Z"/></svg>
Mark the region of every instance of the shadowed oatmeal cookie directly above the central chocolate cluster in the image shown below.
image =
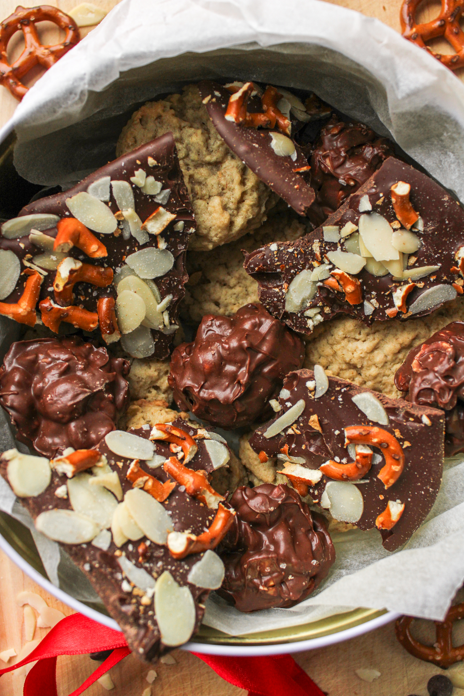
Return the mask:
<svg viewBox="0 0 464 696"><path fill-rule="evenodd" d="M279 206L280 207L280 206ZM181 306L184 321L201 322L206 314L230 317L250 302L259 302L258 285L243 269L243 253L270 242L293 242L307 232L307 223L285 206L272 212L252 235L209 253L189 251L189 283Z"/></svg>

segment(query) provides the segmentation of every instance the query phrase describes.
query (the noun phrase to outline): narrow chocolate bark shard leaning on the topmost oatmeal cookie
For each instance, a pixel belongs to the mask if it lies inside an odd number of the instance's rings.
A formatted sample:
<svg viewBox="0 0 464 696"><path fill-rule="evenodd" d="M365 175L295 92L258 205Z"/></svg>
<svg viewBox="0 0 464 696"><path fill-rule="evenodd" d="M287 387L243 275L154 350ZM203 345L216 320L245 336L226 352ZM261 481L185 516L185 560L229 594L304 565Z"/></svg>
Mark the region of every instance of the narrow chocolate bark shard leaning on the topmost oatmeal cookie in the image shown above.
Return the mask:
<svg viewBox="0 0 464 696"><path fill-rule="evenodd" d="M314 203L310 167L291 138L295 119L292 124L290 114L287 117L278 108L283 96L279 88L267 87L261 98L251 82L232 88L233 93L209 80L200 82L198 89L209 118L232 152L298 214L306 215ZM301 107L301 118L309 120L305 106Z"/></svg>

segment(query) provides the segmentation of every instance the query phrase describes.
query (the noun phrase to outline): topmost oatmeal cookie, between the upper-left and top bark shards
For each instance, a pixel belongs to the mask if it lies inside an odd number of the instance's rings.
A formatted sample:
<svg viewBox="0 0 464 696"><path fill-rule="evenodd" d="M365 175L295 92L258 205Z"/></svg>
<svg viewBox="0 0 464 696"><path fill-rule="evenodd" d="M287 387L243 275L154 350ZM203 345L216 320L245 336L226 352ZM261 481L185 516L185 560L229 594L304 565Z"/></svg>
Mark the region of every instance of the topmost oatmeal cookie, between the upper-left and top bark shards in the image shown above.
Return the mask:
<svg viewBox="0 0 464 696"><path fill-rule="evenodd" d="M197 221L191 248L212 249L259 227L278 197L227 147L197 86L141 106L122 129L117 156L167 132L173 132Z"/></svg>

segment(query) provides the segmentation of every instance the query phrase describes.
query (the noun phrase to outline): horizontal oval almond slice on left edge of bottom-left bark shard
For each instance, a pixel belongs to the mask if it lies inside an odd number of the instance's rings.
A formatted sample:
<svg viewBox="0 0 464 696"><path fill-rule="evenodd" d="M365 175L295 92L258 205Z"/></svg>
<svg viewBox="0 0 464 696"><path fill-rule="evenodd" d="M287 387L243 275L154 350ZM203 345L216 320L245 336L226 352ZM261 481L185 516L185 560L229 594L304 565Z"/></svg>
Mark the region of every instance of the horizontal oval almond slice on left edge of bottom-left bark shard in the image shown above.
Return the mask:
<svg viewBox="0 0 464 696"><path fill-rule="evenodd" d="M74 510L53 509L40 513L35 519L35 529L61 544L86 544L97 536L101 527Z"/></svg>

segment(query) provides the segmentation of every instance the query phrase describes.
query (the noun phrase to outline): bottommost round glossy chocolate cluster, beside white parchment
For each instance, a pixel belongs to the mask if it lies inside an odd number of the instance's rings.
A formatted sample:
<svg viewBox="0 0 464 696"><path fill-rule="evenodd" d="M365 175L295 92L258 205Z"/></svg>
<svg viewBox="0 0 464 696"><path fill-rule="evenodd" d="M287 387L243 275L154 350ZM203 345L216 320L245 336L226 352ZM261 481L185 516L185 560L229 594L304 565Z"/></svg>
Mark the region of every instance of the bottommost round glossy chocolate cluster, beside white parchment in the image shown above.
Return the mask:
<svg viewBox="0 0 464 696"><path fill-rule="evenodd" d="M326 577L335 549L323 516L285 485L241 486L221 546L225 576L219 594L239 611L290 607Z"/></svg>

